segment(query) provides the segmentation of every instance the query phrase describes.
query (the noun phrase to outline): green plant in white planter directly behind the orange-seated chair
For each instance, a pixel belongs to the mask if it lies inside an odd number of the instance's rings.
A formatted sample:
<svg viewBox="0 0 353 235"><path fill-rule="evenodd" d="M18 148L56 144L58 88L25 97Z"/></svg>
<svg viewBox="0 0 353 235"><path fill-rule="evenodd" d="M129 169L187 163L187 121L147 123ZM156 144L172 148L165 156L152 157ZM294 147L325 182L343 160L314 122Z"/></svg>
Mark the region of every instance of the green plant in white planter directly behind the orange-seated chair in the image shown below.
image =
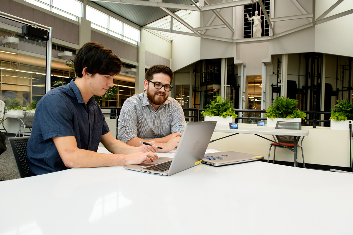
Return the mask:
<svg viewBox="0 0 353 235"><path fill-rule="evenodd" d="M301 119L303 119L306 121L306 113L297 108L298 103L299 100L289 99L285 96L277 97L265 112L267 126L276 126L278 120L301 122Z"/></svg>

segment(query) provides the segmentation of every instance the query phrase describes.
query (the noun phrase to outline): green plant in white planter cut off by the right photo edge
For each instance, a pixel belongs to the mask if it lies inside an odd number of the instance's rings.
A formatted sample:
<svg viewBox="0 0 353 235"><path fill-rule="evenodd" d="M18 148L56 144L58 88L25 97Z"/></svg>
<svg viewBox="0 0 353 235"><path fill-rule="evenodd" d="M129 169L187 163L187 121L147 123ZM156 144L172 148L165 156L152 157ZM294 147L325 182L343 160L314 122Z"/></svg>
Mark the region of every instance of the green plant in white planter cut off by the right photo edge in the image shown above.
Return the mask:
<svg viewBox="0 0 353 235"><path fill-rule="evenodd" d="M334 108L330 111L331 130L349 130L349 121L353 119L353 104L348 100L336 100Z"/></svg>

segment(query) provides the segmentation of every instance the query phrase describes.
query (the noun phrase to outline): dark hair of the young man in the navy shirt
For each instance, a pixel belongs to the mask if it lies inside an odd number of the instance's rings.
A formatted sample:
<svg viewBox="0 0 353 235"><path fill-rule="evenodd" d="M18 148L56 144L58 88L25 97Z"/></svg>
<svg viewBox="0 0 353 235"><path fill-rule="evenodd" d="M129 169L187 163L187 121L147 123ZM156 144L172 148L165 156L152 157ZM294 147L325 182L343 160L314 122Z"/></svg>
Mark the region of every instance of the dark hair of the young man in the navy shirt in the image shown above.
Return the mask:
<svg viewBox="0 0 353 235"><path fill-rule="evenodd" d="M107 74L114 76L120 73L122 66L121 60L112 50L104 47L100 43L88 42L77 51L73 61L76 76L82 78L82 70L86 68L86 72L92 74Z"/></svg>

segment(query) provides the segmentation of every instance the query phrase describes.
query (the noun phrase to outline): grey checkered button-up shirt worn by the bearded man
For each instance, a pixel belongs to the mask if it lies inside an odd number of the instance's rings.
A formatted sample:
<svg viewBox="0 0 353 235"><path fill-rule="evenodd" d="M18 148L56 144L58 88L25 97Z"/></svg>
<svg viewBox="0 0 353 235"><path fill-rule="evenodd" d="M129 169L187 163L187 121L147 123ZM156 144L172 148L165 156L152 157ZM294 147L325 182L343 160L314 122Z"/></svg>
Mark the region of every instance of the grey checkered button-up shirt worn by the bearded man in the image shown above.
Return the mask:
<svg viewBox="0 0 353 235"><path fill-rule="evenodd" d="M156 111L145 92L135 94L122 105L119 116L118 140L127 142L133 137L150 140L172 133L183 133L186 122L177 100L168 98Z"/></svg>

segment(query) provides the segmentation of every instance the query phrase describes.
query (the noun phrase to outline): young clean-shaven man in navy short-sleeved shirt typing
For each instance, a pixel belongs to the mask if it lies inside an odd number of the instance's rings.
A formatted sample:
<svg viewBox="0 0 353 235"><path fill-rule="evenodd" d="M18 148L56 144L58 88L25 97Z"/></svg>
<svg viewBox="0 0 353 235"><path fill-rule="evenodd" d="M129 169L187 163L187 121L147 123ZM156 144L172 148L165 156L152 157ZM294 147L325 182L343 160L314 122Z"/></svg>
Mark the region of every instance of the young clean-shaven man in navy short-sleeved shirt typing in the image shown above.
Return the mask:
<svg viewBox="0 0 353 235"><path fill-rule="evenodd" d="M30 175L157 159L154 146L132 147L115 140L94 100L93 95L113 87L121 68L118 56L99 43L86 43L76 54L74 68L77 79L50 90L36 106L27 144ZM97 153L99 142L114 154Z"/></svg>

